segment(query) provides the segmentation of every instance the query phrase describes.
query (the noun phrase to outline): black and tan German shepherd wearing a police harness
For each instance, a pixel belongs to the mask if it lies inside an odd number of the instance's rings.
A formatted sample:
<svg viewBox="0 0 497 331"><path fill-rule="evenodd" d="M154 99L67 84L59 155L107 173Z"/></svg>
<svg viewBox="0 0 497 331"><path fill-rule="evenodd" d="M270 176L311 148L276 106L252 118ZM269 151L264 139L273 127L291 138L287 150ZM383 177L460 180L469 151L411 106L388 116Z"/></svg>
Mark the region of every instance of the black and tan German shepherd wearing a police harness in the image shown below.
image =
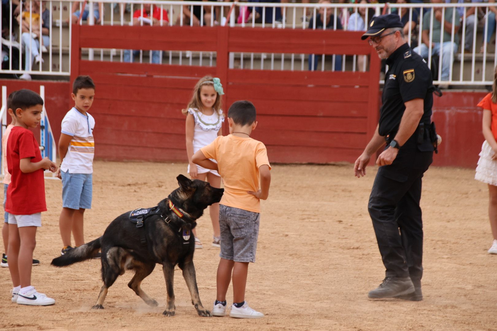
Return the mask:
<svg viewBox="0 0 497 331"><path fill-rule="evenodd" d="M126 212L114 219L103 236L78 248L72 249L63 256L52 260L52 265L66 266L89 260L102 251L103 286L93 309L103 309L107 291L119 275L126 269L135 270L135 275L128 286L150 306L158 303L150 298L140 287L156 264L161 264L166 278L167 303L164 315L174 316L173 277L174 266L183 271L183 277L190 291L192 304L198 315L211 316L200 302L193 265L195 240L191 229L196 226L195 220L202 216L207 206L219 202L224 189L216 189L209 183L200 180L189 180L183 175L176 177L179 188L167 199L159 202L154 212L145 219L130 220L131 213ZM142 224L138 224L143 221Z"/></svg>

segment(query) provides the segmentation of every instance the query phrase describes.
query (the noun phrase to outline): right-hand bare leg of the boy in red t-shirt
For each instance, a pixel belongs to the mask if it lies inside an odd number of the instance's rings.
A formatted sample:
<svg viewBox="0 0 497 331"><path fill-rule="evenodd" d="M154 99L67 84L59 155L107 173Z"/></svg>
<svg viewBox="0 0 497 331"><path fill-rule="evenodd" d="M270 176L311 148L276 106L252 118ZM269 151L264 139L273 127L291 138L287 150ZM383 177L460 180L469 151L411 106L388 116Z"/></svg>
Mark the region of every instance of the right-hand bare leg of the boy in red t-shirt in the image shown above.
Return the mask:
<svg viewBox="0 0 497 331"><path fill-rule="evenodd" d="M21 245L19 248L18 268L21 288L31 285L31 269L33 268L33 251L36 247L36 226L19 228ZM10 257L8 257L10 259ZM8 262L10 264L10 261Z"/></svg>

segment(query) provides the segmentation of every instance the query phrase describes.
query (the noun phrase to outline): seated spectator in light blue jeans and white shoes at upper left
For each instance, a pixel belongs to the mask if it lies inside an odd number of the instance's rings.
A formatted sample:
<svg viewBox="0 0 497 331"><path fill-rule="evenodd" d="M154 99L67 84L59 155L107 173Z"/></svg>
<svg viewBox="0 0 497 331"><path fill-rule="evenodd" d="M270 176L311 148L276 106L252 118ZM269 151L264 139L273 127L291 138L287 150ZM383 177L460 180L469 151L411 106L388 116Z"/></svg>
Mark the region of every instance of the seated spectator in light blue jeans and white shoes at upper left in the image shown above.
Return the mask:
<svg viewBox="0 0 497 331"><path fill-rule="evenodd" d="M31 15L29 14L30 10ZM42 20L41 31L40 19ZM24 70L29 71L31 70L33 60L36 64L43 63L40 50L46 52L47 49L43 44L48 45L50 43L48 36L50 33L50 11L45 8L45 2L43 2L43 8L40 8L39 0L26 1L24 11L17 16L17 22L19 22L22 31L21 42L22 47L24 47ZM29 32L30 27L31 33ZM31 75L25 72L19 78L30 80Z"/></svg>

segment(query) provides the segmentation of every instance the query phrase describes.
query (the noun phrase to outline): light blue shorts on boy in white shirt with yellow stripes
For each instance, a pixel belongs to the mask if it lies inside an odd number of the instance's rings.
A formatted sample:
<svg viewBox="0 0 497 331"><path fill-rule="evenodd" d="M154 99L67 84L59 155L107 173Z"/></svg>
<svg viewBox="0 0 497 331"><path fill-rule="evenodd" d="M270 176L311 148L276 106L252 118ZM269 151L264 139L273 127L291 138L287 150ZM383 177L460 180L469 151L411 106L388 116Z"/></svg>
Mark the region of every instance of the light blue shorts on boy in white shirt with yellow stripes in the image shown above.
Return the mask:
<svg viewBox="0 0 497 331"><path fill-rule="evenodd" d="M61 171L62 206L71 209L90 209L93 188L92 174L71 174Z"/></svg>

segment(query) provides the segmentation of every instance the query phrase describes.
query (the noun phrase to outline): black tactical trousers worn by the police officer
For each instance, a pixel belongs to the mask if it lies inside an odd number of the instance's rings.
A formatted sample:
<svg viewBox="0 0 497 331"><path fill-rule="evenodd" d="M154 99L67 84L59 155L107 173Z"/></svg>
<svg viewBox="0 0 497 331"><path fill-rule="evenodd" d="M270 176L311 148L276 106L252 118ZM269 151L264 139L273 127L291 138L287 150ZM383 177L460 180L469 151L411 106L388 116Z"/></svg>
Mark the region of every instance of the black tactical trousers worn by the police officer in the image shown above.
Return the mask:
<svg viewBox="0 0 497 331"><path fill-rule="evenodd" d="M411 140L411 139L410 139ZM421 178L433 159L409 141L391 165L378 169L368 210L386 276L420 280L423 273Z"/></svg>

